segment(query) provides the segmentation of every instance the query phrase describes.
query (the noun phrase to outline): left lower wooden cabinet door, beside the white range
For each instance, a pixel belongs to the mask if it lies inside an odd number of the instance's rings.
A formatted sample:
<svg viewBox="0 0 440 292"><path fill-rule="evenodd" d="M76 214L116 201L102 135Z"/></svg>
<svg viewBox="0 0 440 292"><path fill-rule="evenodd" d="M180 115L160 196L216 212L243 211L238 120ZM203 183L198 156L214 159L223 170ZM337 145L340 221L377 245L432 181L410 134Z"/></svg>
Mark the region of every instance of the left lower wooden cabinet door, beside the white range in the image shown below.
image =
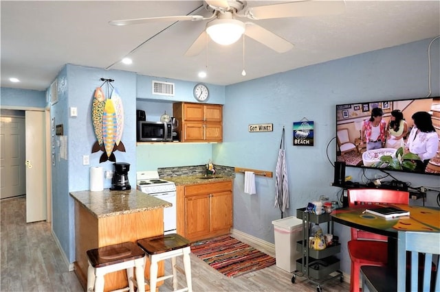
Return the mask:
<svg viewBox="0 0 440 292"><path fill-rule="evenodd" d="M209 195L185 198L186 237L209 234Z"/></svg>

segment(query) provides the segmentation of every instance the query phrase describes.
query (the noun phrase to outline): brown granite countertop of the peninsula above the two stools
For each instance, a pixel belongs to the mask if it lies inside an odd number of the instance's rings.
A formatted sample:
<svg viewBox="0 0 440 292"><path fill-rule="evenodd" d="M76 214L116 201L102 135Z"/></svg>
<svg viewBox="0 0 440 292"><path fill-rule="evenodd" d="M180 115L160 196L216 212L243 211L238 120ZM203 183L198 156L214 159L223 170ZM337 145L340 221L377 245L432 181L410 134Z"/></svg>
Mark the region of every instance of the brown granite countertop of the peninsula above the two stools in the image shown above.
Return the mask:
<svg viewBox="0 0 440 292"><path fill-rule="evenodd" d="M109 188L98 192L78 191L70 195L97 218L173 206L169 202L137 191L135 188L129 191L110 191Z"/></svg>

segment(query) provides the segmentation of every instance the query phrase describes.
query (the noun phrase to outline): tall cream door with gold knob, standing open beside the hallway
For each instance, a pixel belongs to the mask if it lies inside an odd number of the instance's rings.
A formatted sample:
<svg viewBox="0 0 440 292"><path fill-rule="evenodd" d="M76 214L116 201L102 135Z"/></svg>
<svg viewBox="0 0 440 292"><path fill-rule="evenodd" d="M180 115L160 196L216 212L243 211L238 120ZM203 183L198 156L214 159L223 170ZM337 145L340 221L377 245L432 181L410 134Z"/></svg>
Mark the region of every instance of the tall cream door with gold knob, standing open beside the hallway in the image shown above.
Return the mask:
<svg viewBox="0 0 440 292"><path fill-rule="evenodd" d="M47 219L45 112L26 111L26 222Z"/></svg>

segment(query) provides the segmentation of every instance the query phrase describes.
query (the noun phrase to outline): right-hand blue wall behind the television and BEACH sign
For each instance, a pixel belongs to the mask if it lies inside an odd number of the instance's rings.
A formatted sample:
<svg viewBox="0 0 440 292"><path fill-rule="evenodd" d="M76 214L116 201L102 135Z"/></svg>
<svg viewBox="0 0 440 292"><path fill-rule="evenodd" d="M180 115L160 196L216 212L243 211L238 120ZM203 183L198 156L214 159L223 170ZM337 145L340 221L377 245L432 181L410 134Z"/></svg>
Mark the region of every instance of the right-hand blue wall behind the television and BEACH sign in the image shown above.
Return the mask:
<svg viewBox="0 0 440 292"><path fill-rule="evenodd" d="M297 208L318 200L320 195L338 199L341 190L330 186L333 167L329 162L336 160L336 141L332 140L336 134L336 104L428 95L429 42L422 40L227 86L224 142L213 146L214 162L275 171L281 131L285 127L291 204L285 216L295 216ZM439 96L439 40L431 50L432 96ZM292 123L303 118L314 121L313 147L293 146ZM274 132L248 132L252 123L273 123ZM349 167L347 175L362 182L360 169ZM384 176L374 170L366 171L366 175ZM393 172L393 176L412 186L440 187L439 177L434 175ZM234 228L274 243L272 220L281 218L281 212L273 207L275 180L256 176L256 195L243 193L243 180L243 175L237 174ZM437 206L436 195L428 193L428 206ZM342 240L347 241L348 228L338 229ZM342 246L342 253L347 256L346 246ZM342 262L342 271L349 272L347 258Z"/></svg>

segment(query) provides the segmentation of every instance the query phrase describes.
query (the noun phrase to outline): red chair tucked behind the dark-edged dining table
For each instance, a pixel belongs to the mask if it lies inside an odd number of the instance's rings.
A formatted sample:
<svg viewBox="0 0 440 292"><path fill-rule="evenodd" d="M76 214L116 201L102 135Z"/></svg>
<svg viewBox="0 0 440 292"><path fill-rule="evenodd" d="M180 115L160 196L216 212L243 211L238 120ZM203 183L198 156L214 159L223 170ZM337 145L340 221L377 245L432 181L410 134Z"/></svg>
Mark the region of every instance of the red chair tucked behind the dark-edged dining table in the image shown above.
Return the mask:
<svg viewBox="0 0 440 292"><path fill-rule="evenodd" d="M380 188L348 190L349 206L362 204L409 204L409 193ZM362 265L384 266L388 261L387 237L351 228L351 241L347 244L351 259L350 291L360 289Z"/></svg>

